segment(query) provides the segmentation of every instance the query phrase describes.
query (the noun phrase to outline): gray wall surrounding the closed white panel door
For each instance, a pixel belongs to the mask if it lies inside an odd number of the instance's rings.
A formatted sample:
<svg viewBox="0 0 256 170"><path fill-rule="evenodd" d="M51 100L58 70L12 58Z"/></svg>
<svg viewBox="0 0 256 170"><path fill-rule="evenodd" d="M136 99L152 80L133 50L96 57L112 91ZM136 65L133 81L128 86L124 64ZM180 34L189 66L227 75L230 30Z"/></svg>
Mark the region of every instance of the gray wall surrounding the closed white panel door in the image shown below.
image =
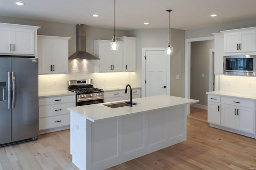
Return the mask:
<svg viewBox="0 0 256 170"><path fill-rule="evenodd" d="M168 29L136 29L129 31L129 36L137 37L136 41L136 72L130 74L129 80L133 84L142 86L142 48L166 47L168 44ZM184 47L185 31L171 29L170 43L174 47L174 53L170 59L170 94L173 96L184 96ZM180 80L176 80L180 75Z"/></svg>

